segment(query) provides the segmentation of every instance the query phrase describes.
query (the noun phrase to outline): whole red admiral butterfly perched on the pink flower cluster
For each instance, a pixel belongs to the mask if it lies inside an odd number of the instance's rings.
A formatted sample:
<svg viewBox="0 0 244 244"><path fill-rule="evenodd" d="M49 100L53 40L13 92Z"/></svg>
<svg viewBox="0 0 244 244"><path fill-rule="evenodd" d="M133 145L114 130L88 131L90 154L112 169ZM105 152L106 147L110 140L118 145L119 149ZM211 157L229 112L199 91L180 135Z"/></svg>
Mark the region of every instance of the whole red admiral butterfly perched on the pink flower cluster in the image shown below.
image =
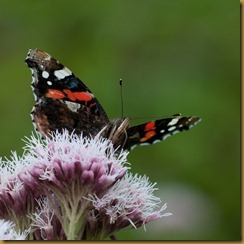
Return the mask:
<svg viewBox="0 0 244 244"><path fill-rule="evenodd" d="M129 127L130 118L109 120L85 84L49 54L30 50L25 62L32 71L36 100L31 115L44 138L64 128L93 137L102 130L101 136L110 139L115 148L130 150L136 145L162 141L200 121L198 117L178 114Z"/></svg>

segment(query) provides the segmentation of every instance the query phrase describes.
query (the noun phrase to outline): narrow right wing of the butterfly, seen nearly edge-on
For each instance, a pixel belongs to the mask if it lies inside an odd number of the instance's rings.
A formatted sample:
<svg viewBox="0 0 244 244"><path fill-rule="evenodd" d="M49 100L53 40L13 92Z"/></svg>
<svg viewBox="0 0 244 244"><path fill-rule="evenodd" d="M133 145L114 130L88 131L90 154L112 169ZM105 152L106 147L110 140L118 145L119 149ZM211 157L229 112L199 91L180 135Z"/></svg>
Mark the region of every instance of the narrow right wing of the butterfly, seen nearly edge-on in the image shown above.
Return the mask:
<svg viewBox="0 0 244 244"><path fill-rule="evenodd" d="M178 132L188 130L200 122L198 117L184 117L181 115L172 118L150 121L145 124L127 129L125 150L131 150L138 145L149 145L165 140Z"/></svg>

